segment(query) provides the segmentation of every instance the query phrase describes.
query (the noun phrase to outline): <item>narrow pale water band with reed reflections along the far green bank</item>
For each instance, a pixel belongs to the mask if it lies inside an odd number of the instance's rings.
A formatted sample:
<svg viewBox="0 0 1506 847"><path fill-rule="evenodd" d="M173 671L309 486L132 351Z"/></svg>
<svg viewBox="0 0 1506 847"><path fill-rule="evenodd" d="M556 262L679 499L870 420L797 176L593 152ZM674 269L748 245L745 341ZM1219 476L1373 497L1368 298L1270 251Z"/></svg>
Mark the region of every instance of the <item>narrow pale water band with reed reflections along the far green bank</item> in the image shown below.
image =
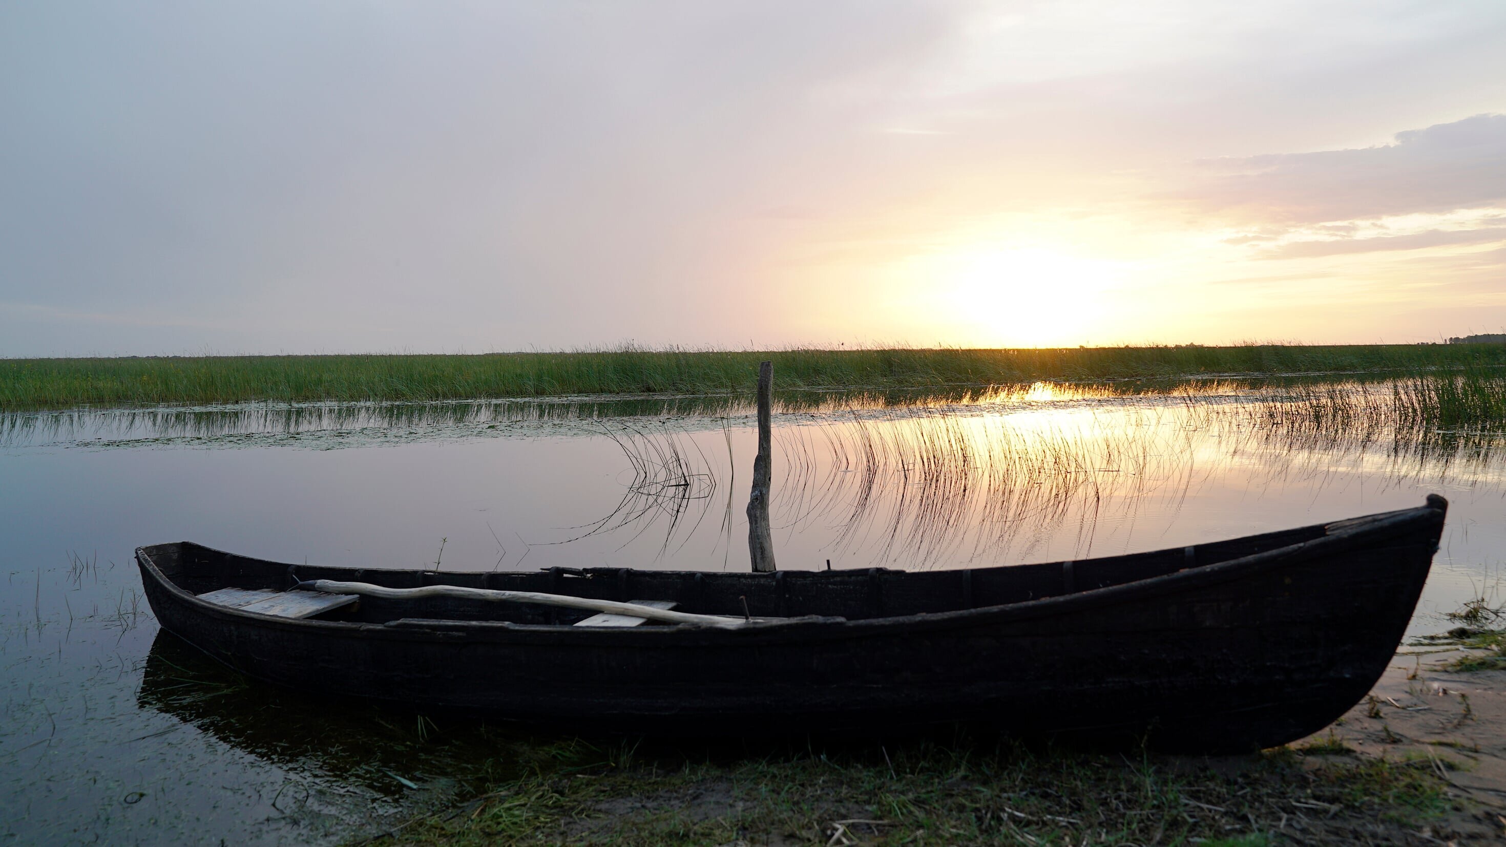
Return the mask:
<svg viewBox="0 0 1506 847"><path fill-rule="evenodd" d="M1048 384L997 387L935 387L925 390L779 391L776 412L825 417L837 412L988 414L1047 406L1164 403L1197 397L1203 403L1280 397L1289 387L1313 385L1315 378L1259 381L1120 381L1111 384ZM1378 381L1375 378L1373 381ZM1372 382L1373 382L1372 381ZM1386 382L1386 381L1379 381ZM1366 382L1348 382L1363 387ZM508 400L358 402L358 403L236 403L223 406L148 406L0 412L0 448L158 445L307 445L361 447L434 438L589 433L590 421L622 418L681 420L688 427L720 426L723 418L751 415L744 394L566 396Z"/></svg>

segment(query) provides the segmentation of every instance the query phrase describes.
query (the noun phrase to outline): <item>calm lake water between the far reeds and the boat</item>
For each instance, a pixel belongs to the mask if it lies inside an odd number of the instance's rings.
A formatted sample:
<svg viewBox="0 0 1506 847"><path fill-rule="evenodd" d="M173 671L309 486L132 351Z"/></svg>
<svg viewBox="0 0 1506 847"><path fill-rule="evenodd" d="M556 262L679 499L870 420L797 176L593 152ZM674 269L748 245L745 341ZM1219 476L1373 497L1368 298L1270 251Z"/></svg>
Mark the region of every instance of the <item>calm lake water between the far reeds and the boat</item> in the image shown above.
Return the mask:
<svg viewBox="0 0 1506 847"><path fill-rule="evenodd" d="M1363 385L1339 393L1364 393ZM194 540L361 567L747 569L735 397L0 415L0 835L307 844L527 769L477 722L247 683L160 633L133 551ZM1495 436L1312 414L1289 388L792 394L782 569L1113 555L1450 499L1413 632L1494 591Z"/></svg>

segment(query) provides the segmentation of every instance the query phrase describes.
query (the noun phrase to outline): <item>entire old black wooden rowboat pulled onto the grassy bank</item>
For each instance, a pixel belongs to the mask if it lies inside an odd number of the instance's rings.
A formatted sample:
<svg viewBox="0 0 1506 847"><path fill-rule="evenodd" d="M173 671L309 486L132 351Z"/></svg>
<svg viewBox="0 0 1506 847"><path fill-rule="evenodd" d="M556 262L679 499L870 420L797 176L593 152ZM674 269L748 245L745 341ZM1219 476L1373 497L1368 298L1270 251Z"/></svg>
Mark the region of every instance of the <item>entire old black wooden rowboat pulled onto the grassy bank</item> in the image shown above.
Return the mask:
<svg viewBox="0 0 1506 847"><path fill-rule="evenodd" d="M1432 495L1188 548L920 573L292 569L187 542L142 548L137 563L167 630L309 692L575 730L961 721L1211 754L1292 742L1369 692L1411 618L1446 509ZM300 590L285 590L289 573ZM303 590L313 581L393 596ZM733 623L590 626L602 615L488 591L649 599Z"/></svg>

